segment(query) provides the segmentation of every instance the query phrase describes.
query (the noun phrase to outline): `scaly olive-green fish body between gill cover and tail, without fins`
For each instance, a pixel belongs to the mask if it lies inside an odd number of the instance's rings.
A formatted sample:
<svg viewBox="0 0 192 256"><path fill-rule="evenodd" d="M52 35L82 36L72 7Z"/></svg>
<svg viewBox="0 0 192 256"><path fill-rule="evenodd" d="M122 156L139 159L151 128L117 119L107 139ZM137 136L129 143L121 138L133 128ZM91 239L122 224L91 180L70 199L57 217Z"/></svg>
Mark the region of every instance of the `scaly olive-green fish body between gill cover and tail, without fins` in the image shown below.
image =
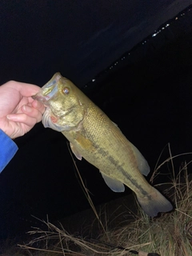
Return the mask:
<svg viewBox="0 0 192 256"><path fill-rule="evenodd" d="M140 197L151 192L152 187L138 170L132 144L94 103L90 103L80 130L63 131L62 134L76 152L102 174L129 186Z"/></svg>

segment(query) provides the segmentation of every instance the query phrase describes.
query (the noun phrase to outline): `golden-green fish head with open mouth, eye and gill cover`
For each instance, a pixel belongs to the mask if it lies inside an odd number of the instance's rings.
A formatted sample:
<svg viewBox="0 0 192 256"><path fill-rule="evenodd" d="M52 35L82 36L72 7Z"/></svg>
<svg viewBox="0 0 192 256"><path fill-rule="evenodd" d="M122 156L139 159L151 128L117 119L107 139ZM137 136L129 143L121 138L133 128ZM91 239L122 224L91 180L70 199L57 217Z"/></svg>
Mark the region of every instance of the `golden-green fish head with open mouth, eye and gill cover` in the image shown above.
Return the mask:
<svg viewBox="0 0 192 256"><path fill-rule="evenodd" d="M45 127L58 131L77 129L84 118L81 90L60 73L54 74L33 98L46 106L42 117Z"/></svg>

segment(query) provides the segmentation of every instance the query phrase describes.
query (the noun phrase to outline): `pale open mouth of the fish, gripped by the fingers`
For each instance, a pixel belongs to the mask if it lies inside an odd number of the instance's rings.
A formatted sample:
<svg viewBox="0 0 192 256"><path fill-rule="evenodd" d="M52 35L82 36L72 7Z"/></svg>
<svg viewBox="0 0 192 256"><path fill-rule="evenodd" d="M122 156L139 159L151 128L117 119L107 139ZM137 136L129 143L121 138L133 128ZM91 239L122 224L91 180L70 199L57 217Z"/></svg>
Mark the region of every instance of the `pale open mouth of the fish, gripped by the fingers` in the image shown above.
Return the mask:
<svg viewBox="0 0 192 256"><path fill-rule="evenodd" d="M32 96L38 102L42 102L45 106L49 106L49 100L54 97L58 92L58 81L62 78L60 73L54 74L53 78L49 82L42 86L38 94Z"/></svg>

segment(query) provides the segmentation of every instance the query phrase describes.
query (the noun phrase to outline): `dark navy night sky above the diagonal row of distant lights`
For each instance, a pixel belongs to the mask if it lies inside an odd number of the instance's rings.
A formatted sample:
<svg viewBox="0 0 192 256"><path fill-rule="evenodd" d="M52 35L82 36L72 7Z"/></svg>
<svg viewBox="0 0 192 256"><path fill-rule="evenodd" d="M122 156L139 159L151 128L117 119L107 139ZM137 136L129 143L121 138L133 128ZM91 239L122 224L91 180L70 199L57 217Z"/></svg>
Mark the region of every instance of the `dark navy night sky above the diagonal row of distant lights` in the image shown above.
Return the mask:
<svg viewBox="0 0 192 256"><path fill-rule="evenodd" d="M0 84L42 86L57 71L79 86L191 0L1 1Z"/></svg>

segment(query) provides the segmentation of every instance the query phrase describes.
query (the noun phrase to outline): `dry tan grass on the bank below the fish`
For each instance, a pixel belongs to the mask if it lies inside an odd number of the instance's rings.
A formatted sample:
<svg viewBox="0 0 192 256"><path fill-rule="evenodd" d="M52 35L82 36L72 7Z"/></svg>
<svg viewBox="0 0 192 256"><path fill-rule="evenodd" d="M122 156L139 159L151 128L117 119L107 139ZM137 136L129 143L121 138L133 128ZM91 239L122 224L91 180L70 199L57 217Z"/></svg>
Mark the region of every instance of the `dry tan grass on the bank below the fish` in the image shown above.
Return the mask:
<svg viewBox="0 0 192 256"><path fill-rule="evenodd" d="M48 218L46 221L39 220L46 224L46 230L34 228L30 231L29 234L33 235L34 239L25 245L19 245L24 249L23 253L25 251L25 254L20 255L128 256L138 254L146 256L150 253L151 256L190 256L192 251L192 179L187 173L190 162L182 164L179 174L175 177L174 158L170 154L170 158L163 162L163 164L170 162L173 169L172 182L164 191L164 194L174 202L173 212L161 214L158 218L150 218L138 205L138 214L134 215L133 222L119 223L114 226L114 229L109 229L107 216L104 218L105 222L102 222L101 213L98 214L92 206L96 212L98 224L102 226L98 239L71 235L66 232L62 224L54 226ZM158 170L159 167L156 168L152 179L158 174ZM87 199L89 200L89 197ZM105 210L102 215L105 215Z"/></svg>

